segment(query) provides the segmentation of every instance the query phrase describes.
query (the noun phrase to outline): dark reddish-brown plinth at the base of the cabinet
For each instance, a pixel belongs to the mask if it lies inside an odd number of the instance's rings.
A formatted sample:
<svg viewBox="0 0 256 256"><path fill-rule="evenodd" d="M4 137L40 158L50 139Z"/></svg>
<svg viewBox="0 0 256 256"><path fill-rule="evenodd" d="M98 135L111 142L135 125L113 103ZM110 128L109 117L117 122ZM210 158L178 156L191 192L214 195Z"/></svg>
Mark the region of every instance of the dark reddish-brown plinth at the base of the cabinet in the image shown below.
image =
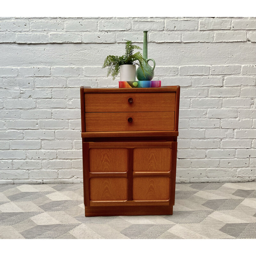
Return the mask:
<svg viewBox="0 0 256 256"><path fill-rule="evenodd" d="M172 215L173 206L85 206L85 217Z"/></svg>

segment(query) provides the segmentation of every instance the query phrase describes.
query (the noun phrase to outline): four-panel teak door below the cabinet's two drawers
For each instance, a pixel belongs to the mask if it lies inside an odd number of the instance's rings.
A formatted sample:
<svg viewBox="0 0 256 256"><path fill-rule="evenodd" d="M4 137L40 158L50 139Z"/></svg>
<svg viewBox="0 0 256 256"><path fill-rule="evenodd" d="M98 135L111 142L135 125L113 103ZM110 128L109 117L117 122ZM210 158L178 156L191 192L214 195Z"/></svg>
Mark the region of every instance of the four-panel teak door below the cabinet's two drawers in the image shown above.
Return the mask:
<svg viewBox="0 0 256 256"><path fill-rule="evenodd" d="M86 206L173 205L177 142L84 142Z"/></svg>

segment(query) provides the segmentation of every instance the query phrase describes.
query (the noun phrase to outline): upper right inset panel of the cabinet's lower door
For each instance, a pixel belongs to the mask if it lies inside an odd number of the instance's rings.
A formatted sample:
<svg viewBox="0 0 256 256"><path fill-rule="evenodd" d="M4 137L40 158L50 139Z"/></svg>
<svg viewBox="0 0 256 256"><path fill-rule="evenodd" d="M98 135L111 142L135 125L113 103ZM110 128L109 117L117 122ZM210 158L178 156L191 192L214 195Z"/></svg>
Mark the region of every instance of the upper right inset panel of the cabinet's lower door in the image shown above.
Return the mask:
<svg viewBox="0 0 256 256"><path fill-rule="evenodd" d="M134 148L133 159L134 172L171 170L171 148Z"/></svg>

